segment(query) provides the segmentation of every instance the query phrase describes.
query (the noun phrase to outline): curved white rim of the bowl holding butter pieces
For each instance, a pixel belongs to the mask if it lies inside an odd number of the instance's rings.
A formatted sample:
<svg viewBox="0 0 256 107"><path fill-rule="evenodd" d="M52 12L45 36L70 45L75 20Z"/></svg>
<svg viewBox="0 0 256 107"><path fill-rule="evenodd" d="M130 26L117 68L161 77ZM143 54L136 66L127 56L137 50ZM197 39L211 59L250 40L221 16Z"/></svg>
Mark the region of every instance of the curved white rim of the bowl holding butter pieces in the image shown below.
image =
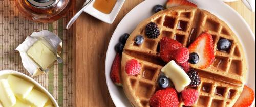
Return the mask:
<svg viewBox="0 0 256 107"><path fill-rule="evenodd" d="M29 76L27 76L23 73L13 71L13 70L2 70L2 71L0 71L0 79L6 79L8 77L8 75L14 75L14 76L20 77L22 79L25 79L26 81L29 81L29 82L33 83L37 90L39 90L40 92L45 93L51 99L51 101L52 101L52 103L55 107L59 107L57 101L53 98L53 96L44 87L42 87L39 83L34 81L34 79L32 79L31 77L29 77Z"/></svg>

